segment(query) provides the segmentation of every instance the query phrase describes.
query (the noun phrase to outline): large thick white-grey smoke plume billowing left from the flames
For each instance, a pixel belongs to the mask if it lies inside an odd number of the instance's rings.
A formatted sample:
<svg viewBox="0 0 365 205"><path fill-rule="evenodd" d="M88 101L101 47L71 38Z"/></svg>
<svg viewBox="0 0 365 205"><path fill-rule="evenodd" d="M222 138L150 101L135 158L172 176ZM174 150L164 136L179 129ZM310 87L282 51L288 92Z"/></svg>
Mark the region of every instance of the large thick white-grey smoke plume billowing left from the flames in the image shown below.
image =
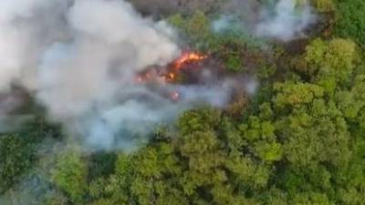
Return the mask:
<svg viewBox="0 0 365 205"><path fill-rule="evenodd" d="M145 67L180 54L172 29L120 0L0 1L0 91L26 87L52 120L97 149L133 149L135 135L195 102L222 106L226 88L146 87ZM182 97L172 102L170 92Z"/></svg>

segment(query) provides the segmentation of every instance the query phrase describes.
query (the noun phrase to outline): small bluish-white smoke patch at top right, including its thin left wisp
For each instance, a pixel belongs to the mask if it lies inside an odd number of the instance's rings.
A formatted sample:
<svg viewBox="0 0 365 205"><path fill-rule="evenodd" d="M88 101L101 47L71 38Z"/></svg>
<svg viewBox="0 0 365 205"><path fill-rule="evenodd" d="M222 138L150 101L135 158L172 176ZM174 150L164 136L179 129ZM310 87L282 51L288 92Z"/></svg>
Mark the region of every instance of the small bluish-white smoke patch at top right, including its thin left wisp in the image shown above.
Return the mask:
<svg viewBox="0 0 365 205"><path fill-rule="evenodd" d="M231 8L234 11L230 15L222 15L214 20L212 24L214 32L241 27L253 36L290 41L305 36L305 29L316 20L316 15L307 1L299 4L297 0L276 0L272 6L264 5L260 9L253 9L258 6L257 2L252 0L242 0L239 3L232 1L231 4L235 5L235 8ZM241 7L250 15L235 11ZM244 19L234 17L233 14L244 15Z"/></svg>

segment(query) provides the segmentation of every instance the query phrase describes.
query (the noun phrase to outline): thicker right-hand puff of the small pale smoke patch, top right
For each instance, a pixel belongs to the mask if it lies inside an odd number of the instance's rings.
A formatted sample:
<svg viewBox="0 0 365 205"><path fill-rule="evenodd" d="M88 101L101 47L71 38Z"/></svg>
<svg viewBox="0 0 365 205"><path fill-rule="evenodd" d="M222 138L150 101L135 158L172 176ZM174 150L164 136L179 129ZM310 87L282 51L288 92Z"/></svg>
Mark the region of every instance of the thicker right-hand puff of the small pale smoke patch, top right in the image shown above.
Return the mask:
<svg viewBox="0 0 365 205"><path fill-rule="evenodd" d="M315 22L312 8L306 2L298 5L297 0L278 0L273 14L262 13L262 21L256 26L257 36L273 37L283 41L303 36L303 31Z"/></svg>

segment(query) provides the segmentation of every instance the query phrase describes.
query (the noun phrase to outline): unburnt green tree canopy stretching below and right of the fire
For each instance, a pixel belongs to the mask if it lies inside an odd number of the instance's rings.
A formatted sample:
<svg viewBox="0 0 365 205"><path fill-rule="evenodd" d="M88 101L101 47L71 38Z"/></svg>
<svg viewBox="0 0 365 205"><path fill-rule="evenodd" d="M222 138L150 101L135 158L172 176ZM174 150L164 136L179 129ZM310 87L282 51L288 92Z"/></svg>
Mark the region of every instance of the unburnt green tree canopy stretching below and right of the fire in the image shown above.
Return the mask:
<svg viewBox="0 0 365 205"><path fill-rule="evenodd" d="M240 30L214 33L203 12L169 16L229 71L252 72L245 56L254 58L260 90L189 110L132 153L89 153L36 118L0 137L0 204L365 204L365 2L312 2L334 30L298 54L279 43L268 55Z"/></svg>

